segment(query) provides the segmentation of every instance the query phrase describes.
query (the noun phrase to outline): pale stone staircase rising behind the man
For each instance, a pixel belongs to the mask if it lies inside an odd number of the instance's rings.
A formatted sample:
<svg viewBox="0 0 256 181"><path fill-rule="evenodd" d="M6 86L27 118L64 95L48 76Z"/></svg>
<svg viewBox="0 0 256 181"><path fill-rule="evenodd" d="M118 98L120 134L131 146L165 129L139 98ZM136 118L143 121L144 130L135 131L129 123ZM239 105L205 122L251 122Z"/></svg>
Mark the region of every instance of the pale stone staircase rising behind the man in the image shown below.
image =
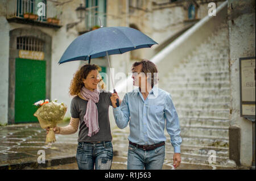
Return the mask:
<svg viewBox="0 0 256 181"><path fill-rule="evenodd" d="M159 88L170 92L179 115L183 163L229 165L228 54L228 25L223 23L174 71L160 77ZM172 158L167 132L166 137L166 157ZM215 163L209 162L210 150L216 151Z"/></svg>

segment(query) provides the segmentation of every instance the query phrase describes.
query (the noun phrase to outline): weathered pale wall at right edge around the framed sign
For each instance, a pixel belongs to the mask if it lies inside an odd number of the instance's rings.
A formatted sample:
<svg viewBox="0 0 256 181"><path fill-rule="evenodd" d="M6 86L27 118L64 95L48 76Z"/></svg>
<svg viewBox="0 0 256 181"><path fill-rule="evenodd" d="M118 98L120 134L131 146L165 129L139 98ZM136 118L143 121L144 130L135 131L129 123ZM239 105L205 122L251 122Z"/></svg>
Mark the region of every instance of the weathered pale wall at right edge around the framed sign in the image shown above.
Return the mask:
<svg viewBox="0 0 256 181"><path fill-rule="evenodd" d="M239 58L255 57L255 1L228 1L231 125L241 129L241 164L251 165L252 123L240 116Z"/></svg>

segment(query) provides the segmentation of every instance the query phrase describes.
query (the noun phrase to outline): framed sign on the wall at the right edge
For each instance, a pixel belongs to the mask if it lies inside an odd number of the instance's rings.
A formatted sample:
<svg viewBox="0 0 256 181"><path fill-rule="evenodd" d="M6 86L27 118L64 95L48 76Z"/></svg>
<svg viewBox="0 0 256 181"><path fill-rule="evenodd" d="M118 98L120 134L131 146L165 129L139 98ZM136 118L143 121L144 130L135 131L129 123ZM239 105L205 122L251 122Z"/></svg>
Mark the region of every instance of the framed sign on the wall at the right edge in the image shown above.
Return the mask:
<svg viewBox="0 0 256 181"><path fill-rule="evenodd" d="M240 115L255 119L255 57L240 58Z"/></svg>

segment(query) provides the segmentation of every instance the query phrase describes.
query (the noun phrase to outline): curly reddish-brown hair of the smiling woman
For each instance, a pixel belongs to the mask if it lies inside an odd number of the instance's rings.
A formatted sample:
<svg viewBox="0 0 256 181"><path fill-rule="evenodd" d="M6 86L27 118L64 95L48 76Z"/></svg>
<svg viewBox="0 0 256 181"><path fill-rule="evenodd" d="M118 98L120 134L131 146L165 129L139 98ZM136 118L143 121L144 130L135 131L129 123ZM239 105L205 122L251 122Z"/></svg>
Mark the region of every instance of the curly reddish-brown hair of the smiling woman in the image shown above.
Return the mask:
<svg viewBox="0 0 256 181"><path fill-rule="evenodd" d="M76 96L79 94L80 90L84 86L84 82L82 82L82 79L86 79L87 75L92 70L97 70L98 72L101 71L100 66L95 64L85 64L82 65L79 70L76 71L75 74L73 74L73 79L71 81L70 87L69 87L69 94L72 96Z"/></svg>

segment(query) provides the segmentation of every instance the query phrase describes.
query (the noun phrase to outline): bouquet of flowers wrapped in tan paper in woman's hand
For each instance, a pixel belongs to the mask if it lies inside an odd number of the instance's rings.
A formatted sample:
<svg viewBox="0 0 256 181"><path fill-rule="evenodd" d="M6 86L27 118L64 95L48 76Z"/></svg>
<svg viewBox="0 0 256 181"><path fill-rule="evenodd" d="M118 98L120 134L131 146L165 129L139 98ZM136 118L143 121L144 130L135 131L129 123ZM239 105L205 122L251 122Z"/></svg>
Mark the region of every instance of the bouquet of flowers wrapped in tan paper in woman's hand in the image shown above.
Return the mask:
<svg viewBox="0 0 256 181"><path fill-rule="evenodd" d="M49 132L46 135L46 143L55 142L55 134L53 128L57 123L63 120L67 111L67 106L64 103L57 103L57 100L49 102L48 99L40 100L34 104L38 107L38 110L34 113L34 116L38 118L41 128L46 129L49 127Z"/></svg>

